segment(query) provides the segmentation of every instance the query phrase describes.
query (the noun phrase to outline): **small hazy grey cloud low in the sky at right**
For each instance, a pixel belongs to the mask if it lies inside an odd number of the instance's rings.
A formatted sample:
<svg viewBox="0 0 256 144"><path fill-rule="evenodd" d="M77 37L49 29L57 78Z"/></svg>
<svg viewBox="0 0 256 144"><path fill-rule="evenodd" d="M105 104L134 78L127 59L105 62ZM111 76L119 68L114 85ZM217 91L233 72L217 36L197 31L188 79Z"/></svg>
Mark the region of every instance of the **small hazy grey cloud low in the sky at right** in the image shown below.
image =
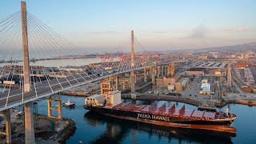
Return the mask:
<svg viewBox="0 0 256 144"><path fill-rule="evenodd" d="M196 28L194 28L194 30L192 30L191 34L189 34L188 36L186 36L186 38L206 38L206 26L204 26L203 24L197 26Z"/></svg>

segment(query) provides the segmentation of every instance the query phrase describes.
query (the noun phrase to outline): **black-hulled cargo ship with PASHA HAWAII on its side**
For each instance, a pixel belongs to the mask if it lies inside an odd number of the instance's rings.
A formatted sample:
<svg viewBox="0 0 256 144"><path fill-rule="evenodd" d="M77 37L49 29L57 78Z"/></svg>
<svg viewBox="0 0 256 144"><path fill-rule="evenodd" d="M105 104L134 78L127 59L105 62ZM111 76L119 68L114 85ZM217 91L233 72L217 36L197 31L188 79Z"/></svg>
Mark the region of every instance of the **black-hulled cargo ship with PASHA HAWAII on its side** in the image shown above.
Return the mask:
<svg viewBox="0 0 256 144"><path fill-rule="evenodd" d="M158 106L157 103L150 106L122 102L121 92L118 90L110 91L104 96L94 94L86 98L84 108L113 118L158 126L236 132L236 129L231 125L237 116L231 114L229 110L226 112L207 112L205 110L186 110L185 105L177 108L175 105L168 107L166 103L162 106Z"/></svg>

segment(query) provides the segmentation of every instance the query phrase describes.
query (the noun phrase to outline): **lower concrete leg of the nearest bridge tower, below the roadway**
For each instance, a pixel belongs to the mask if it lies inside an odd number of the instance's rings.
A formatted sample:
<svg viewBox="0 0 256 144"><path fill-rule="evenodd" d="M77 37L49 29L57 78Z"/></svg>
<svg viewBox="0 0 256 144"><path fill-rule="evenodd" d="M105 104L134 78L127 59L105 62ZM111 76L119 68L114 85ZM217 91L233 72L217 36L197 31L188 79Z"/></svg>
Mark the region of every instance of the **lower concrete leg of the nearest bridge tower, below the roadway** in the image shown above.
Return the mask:
<svg viewBox="0 0 256 144"><path fill-rule="evenodd" d="M34 144L34 115L32 111L32 102L24 104L25 111L25 143Z"/></svg>

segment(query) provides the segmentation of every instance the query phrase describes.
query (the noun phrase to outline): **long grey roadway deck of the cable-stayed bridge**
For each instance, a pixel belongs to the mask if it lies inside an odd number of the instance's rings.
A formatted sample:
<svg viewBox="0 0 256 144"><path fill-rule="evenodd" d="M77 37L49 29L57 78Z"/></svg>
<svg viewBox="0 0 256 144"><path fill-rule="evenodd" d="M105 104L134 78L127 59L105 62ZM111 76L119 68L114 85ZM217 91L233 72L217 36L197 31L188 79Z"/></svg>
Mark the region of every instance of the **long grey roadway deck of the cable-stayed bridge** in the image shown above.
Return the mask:
<svg viewBox="0 0 256 144"><path fill-rule="evenodd" d="M180 61L178 61L180 62ZM22 89L14 89L10 90L10 94L8 97L8 91L6 90L4 93L0 94L0 111L10 109L14 106L22 105L26 102L32 102L39 98L45 98L53 94L57 94L58 92L68 90L70 88L73 88L75 86L81 86L84 84L89 84L90 82L98 81L102 78L108 78L110 76L116 75L116 74L122 74L122 73L128 73L131 70L141 70L149 66L159 66L167 64L168 62L161 63L150 63L148 66L142 66L142 67L135 67L132 69L129 67L126 70L120 70L116 71L112 74L107 74L103 76L96 76L94 74L88 75L88 74L77 74L66 78L58 78L44 82L36 82L36 86L32 84L30 87L30 92L22 93ZM169 62L172 63L172 62ZM31 79L33 81L33 79ZM36 89L36 90L35 90ZM8 97L8 103L6 104L6 99Z"/></svg>

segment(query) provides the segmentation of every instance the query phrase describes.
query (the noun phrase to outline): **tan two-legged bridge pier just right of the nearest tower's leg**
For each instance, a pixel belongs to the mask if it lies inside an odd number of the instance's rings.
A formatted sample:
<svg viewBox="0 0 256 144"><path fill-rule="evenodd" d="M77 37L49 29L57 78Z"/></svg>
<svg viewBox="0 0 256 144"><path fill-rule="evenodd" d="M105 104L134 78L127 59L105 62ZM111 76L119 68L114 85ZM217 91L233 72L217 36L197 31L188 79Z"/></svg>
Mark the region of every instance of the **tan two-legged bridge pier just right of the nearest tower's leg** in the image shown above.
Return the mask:
<svg viewBox="0 0 256 144"><path fill-rule="evenodd" d="M62 100L60 99L55 100L51 98L48 98L47 100L48 100L48 117L62 119ZM58 107L52 107L51 102L57 102ZM58 110L58 117L54 117L51 113L51 110Z"/></svg>

